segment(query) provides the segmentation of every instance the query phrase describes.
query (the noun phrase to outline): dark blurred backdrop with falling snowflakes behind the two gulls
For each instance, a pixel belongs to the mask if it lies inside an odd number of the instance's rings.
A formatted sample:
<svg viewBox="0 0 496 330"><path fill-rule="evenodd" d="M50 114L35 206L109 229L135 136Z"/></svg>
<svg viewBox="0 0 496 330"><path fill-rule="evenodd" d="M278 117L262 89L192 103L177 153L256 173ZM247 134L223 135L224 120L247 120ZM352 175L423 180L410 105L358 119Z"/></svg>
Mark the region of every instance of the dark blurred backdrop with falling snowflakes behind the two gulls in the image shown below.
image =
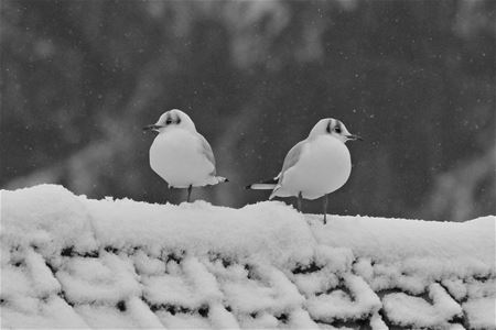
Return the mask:
<svg viewBox="0 0 496 330"><path fill-rule="evenodd" d="M179 202L141 131L179 108L230 179L193 197L240 207L333 117L365 141L331 213L494 215L495 4L2 0L0 186Z"/></svg>

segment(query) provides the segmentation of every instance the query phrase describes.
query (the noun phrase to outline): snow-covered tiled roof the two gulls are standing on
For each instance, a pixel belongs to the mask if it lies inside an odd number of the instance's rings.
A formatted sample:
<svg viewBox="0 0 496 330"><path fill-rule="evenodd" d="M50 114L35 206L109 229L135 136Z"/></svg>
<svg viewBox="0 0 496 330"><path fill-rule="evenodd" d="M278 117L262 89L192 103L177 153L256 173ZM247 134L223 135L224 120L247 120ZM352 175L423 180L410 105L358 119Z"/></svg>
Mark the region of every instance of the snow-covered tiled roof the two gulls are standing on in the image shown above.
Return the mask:
<svg viewBox="0 0 496 330"><path fill-rule="evenodd" d="M1 195L3 328L495 329L495 217L463 223Z"/></svg>

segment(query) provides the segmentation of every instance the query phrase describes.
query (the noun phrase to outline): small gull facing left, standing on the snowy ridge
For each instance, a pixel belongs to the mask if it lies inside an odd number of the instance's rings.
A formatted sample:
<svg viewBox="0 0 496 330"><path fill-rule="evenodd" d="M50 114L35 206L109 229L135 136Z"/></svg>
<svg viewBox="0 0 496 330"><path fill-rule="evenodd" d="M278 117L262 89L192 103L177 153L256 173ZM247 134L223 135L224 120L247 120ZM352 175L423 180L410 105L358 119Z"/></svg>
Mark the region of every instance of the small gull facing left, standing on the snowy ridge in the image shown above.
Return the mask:
<svg viewBox="0 0 496 330"><path fill-rule="evenodd" d="M157 123L143 130L159 132L150 147L151 168L170 188L187 188L187 201L193 187L227 182L216 175L211 145L183 111L166 111Z"/></svg>

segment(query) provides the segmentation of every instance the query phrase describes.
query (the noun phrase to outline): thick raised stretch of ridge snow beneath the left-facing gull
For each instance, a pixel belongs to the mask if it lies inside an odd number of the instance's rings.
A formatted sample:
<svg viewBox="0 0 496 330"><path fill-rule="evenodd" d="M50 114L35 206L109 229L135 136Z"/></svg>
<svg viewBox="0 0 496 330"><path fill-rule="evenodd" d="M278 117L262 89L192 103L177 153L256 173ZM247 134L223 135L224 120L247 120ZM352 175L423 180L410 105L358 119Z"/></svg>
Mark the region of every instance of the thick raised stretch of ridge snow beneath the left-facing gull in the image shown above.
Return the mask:
<svg viewBox="0 0 496 330"><path fill-rule="evenodd" d="M119 250L140 246L152 255L163 250L217 253L283 264L306 260L315 241L302 216L282 202L250 205L240 211L204 201L163 206L126 199L80 200L94 219L105 219L91 222L100 245Z"/></svg>

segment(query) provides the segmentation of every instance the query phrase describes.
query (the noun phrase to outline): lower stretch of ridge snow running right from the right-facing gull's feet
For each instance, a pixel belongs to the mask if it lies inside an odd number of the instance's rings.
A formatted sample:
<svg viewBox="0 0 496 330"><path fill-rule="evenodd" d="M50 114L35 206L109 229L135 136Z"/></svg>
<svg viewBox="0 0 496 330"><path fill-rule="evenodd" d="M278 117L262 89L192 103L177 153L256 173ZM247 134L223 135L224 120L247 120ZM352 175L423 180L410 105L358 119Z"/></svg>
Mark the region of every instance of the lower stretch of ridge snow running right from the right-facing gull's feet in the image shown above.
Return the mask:
<svg viewBox="0 0 496 330"><path fill-rule="evenodd" d="M315 219L314 223L319 223ZM370 217L338 217L330 226L319 226L314 234L320 243L352 249L355 256L376 262L402 262L402 270L430 268L422 263L430 257L442 263L435 272L455 268L457 274L494 267L495 218L466 222L440 222ZM477 257L473 257L477 256ZM468 264L465 264L465 263ZM429 273L435 273L429 272Z"/></svg>

